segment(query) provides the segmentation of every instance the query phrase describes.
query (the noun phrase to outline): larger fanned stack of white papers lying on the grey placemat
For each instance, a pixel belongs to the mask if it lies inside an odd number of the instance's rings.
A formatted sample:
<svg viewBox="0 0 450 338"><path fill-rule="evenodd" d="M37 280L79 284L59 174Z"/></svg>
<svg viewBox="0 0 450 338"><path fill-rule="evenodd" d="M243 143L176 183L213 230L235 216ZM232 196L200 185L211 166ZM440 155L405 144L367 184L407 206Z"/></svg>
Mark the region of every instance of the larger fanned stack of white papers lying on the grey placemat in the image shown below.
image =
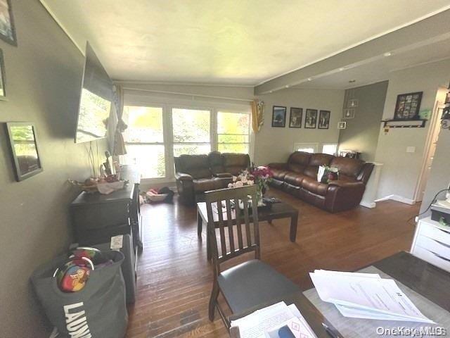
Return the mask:
<svg viewBox="0 0 450 338"><path fill-rule="evenodd" d="M322 301L350 318L434 322L425 317L394 280L372 273L315 270L309 274Z"/></svg>

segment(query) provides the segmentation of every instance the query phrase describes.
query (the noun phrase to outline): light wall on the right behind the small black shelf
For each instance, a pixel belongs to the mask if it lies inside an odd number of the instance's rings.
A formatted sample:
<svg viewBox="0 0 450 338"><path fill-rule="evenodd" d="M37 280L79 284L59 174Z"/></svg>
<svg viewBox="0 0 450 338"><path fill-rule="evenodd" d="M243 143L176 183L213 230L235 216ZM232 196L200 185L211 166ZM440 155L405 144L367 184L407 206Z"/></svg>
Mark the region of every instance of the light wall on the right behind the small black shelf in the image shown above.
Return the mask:
<svg viewBox="0 0 450 338"><path fill-rule="evenodd" d="M439 87L448 86L449 77L449 59L392 72L383 119L393 118L397 95L409 92L423 92L420 109L432 110ZM375 161L383 163L383 169L378 199L395 195L395 199L414 202L429 127L427 123L424 128L392 128L385 134L380 123ZM406 153L407 146L415 147L416 151Z"/></svg>

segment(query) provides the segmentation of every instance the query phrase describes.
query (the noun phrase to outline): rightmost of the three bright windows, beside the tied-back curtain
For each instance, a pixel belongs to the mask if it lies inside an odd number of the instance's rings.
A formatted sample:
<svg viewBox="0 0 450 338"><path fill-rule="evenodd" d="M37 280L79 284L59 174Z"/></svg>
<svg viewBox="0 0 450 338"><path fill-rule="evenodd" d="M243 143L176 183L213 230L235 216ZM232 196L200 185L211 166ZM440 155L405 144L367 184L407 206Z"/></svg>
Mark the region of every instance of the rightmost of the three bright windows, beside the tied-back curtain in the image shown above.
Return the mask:
<svg viewBox="0 0 450 338"><path fill-rule="evenodd" d="M250 115L248 113L217 113L217 150L224 153L249 152Z"/></svg>

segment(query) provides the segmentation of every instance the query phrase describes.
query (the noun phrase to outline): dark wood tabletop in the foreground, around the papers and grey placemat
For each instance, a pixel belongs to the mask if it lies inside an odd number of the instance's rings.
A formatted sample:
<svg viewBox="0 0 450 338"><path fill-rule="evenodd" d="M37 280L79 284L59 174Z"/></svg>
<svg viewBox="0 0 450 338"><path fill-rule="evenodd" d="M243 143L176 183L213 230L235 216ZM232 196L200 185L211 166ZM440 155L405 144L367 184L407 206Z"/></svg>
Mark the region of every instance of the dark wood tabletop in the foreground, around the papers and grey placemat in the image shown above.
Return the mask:
<svg viewBox="0 0 450 338"><path fill-rule="evenodd" d="M404 251L367 266L370 265L382 270L384 273L387 273L387 275L390 275L413 291L421 294L427 299L430 299L430 301L436 303L447 311L450 311L450 273L447 273L446 271L435 267L435 265L422 261L419 258L412 256L411 253L406 253ZM304 318L316 333L317 337L330 338L328 333L323 330L322 327L322 323L325 320L322 313L317 310L317 308L306 298L306 296L302 294L302 292L296 292L295 294L286 296L283 299L274 299L274 301L261 304L260 306L246 311L245 313L233 315L231 320L242 318L243 316L256 311L258 308L264 308L265 306L278 303L278 301L285 301L288 305L295 303L297 308L300 310L302 315L304 315ZM327 325L328 324L329 323L327 323Z"/></svg>

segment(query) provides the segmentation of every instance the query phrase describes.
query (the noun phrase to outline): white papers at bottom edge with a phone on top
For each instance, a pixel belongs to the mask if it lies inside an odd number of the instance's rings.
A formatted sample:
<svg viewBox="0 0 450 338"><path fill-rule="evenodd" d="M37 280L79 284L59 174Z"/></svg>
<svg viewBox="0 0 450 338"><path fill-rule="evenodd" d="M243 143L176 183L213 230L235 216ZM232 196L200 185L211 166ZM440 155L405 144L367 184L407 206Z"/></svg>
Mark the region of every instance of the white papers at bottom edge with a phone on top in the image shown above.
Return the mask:
<svg viewBox="0 0 450 338"><path fill-rule="evenodd" d="M240 338L316 338L295 304L281 301L231 322Z"/></svg>

